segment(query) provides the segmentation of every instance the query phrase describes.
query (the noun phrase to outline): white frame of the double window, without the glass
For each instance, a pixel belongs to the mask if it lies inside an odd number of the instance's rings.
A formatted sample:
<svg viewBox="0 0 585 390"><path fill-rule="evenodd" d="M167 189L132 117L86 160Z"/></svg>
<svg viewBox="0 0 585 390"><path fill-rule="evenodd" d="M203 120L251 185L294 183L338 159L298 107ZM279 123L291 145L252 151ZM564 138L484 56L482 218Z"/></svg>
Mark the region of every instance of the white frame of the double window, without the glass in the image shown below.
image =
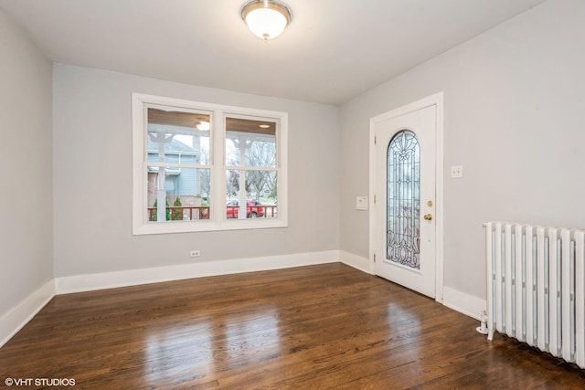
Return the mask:
<svg viewBox="0 0 585 390"><path fill-rule="evenodd" d="M163 106L186 111L207 111L211 115L210 132L210 218L196 221L152 223L147 216L146 108ZM133 235L186 233L219 230L288 227L287 149L288 113L179 100L140 93L132 94L133 133ZM273 218L228 219L226 217L226 174L233 167L226 163L226 117L276 121L278 215Z"/></svg>

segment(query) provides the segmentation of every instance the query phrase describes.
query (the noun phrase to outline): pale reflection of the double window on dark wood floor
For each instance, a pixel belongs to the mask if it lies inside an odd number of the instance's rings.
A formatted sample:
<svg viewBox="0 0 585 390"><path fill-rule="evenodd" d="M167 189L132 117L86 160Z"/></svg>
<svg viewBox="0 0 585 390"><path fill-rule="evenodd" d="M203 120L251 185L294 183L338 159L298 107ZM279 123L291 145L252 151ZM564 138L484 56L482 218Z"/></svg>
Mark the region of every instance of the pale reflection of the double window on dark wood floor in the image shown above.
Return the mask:
<svg viewBox="0 0 585 390"><path fill-rule="evenodd" d="M172 328L147 332L144 347L147 382L190 380L262 362L280 353L276 310L221 313L177 321Z"/></svg>

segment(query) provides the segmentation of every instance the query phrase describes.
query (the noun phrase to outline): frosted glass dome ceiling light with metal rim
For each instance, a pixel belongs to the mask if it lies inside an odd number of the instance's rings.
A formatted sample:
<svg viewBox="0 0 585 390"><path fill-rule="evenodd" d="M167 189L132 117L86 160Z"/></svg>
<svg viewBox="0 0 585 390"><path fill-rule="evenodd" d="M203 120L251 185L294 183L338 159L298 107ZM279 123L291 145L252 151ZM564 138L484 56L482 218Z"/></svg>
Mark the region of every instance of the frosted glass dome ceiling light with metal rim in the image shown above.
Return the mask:
<svg viewBox="0 0 585 390"><path fill-rule="evenodd" d="M291 23L291 9L278 0L250 0L241 7L241 18L257 37L269 40Z"/></svg>

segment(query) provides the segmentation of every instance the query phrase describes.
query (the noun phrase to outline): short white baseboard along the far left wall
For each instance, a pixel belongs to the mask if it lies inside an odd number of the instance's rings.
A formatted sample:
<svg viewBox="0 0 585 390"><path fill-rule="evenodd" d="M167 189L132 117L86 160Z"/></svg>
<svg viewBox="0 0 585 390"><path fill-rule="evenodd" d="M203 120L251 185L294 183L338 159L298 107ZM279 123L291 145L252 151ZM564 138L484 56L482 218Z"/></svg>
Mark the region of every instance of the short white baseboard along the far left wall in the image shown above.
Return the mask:
<svg viewBox="0 0 585 390"><path fill-rule="evenodd" d="M55 281L50 279L10 311L0 317L0 347L20 331L55 296Z"/></svg>

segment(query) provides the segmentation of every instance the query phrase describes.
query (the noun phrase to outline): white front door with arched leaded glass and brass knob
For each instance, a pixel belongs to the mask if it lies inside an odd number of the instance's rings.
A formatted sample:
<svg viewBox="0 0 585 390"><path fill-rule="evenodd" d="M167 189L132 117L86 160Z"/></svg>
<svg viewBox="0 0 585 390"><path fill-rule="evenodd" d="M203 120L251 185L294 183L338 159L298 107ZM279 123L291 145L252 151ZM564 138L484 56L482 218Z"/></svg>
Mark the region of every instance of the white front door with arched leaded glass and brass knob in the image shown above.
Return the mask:
<svg viewBox="0 0 585 390"><path fill-rule="evenodd" d="M373 268L382 278L434 298L437 106L409 107L370 121L375 140Z"/></svg>

